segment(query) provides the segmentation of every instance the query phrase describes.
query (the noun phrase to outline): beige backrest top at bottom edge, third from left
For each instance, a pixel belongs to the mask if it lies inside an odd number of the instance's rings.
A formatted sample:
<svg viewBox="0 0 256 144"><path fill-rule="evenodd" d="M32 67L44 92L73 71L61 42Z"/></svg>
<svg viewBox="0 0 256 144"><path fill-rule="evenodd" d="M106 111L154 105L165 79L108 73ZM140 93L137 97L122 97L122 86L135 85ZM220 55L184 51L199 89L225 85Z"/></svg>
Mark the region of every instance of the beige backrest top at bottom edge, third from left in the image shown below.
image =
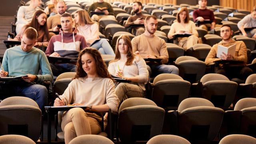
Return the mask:
<svg viewBox="0 0 256 144"><path fill-rule="evenodd" d="M190 142L180 136L162 134L154 136L147 144L190 144Z"/></svg>

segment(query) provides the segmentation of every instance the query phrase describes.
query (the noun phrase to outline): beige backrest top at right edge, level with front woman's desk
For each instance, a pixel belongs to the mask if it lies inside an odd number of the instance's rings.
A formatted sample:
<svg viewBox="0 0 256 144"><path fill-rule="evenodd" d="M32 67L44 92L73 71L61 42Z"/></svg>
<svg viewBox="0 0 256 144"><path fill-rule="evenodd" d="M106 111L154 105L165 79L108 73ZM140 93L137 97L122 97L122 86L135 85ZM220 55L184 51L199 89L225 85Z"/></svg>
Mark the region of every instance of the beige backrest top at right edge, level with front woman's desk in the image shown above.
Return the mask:
<svg viewBox="0 0 256 144"><path fill-rule="evenodd" d="M238 100L234 110L242 110L253 106L256 106L256 98L242 98L241 100Z"/></svg>

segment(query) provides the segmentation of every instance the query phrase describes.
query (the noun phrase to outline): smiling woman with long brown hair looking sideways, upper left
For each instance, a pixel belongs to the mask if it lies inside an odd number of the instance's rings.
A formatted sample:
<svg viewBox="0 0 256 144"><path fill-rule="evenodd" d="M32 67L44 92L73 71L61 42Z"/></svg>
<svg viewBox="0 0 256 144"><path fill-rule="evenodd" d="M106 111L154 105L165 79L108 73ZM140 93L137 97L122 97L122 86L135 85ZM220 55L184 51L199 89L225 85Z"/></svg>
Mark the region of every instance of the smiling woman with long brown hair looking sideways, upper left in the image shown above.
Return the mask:
<svg viewBox="0 0 256 144"><path fill-rule="evenodd" d="M47 16L46 13L42 10L37 10L32 18L32 21L20 30L20 32L15 36L14 39L8 38L8 40L21 40L21 36L28 27L35 28L38 36L36 38L36 44L34 46L40 47L44 46L47 47L49 44L50 36L48 32L48 28L46 25Z"/></svg>

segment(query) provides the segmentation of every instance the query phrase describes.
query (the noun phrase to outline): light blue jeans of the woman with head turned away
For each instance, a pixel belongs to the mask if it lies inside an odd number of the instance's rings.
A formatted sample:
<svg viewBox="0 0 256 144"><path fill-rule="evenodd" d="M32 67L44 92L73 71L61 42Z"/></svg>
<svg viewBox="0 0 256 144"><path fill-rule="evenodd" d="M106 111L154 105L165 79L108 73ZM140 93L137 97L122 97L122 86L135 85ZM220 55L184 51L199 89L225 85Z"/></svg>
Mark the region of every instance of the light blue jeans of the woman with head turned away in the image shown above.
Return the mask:
<svg viewBox="0 0 256 144"><path fill-rule="evenodd" d="M112 47L106 39L99 40L95 44L91 45L91 47L99 50L101 54L110 54L115 56L114 50L112 49Z"/></svg>

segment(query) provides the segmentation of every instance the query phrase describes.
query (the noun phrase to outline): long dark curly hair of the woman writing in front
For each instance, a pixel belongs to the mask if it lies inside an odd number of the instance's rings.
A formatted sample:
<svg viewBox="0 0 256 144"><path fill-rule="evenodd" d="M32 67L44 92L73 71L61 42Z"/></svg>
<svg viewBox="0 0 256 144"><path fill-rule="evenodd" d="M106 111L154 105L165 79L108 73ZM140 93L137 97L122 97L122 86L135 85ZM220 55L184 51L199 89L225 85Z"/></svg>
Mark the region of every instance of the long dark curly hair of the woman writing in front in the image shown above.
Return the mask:
<svg viewBox="0 0 256 144"><path fill-rule="evenodd" d="M74 79L76 78L87 78L87 74L84 71L84 69L82 68L82 55L84 54L90 54L96 63L96 70L97 70L97 74L98 76L100 76L101 78L110 78L112 80L114 80L110 73L108 72L108 68L105 64L105 62L103 61L100 52L94 48L91 47L87 47L84 50L82 50L79 55L78 55L78 60L76 63L76 75L74 77Z"/></svg>

